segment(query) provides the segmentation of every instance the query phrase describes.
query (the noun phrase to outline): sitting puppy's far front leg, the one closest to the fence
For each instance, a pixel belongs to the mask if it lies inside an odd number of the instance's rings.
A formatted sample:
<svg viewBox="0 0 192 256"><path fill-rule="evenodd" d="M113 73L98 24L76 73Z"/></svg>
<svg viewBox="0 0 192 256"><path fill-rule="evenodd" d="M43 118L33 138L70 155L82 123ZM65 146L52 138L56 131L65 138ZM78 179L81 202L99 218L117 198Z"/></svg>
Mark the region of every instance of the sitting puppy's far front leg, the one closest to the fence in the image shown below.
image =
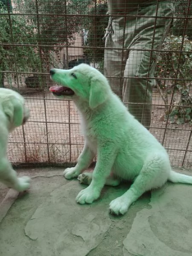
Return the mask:
<svg viewBox="0 0 192 256"><path fill-rule="evenodd" d="M78 175L81 172L83 172L85 169L87 169L90 166L90 163L93 160L94 156L95 154L93 153L93 151L91 151L90 148L85 143L83 151L79 155L76 166L65 169L63 173L64 177L66 179L72 179L74 177L78 177Z"/></svg>

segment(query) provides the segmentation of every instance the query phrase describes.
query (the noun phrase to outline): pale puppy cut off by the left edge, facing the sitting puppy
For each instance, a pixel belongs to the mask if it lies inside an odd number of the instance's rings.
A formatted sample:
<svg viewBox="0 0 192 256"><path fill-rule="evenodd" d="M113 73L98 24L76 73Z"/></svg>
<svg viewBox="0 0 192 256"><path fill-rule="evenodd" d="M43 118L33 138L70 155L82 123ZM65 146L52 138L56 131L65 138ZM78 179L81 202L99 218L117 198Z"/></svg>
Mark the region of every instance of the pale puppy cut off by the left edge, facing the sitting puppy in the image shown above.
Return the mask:
<svg viewBox="0 0 192 256"><path fill-rule="evenodd" d="M9 132L23 125L29 118L29 109L23 97L10 89L0 88L0 181L9 188L24 191L29 188L29 177L17 177L9 163L6 151Z"/></svg>

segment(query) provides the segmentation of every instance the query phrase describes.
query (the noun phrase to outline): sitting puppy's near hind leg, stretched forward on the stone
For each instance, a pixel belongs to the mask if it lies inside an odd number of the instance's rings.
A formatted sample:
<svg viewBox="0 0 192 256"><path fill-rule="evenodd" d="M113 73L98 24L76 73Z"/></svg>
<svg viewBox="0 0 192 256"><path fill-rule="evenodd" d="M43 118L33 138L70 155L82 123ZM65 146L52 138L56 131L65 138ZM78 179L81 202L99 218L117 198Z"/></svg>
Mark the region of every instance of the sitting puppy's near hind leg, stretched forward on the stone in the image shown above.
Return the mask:
<svg viewBox="0 0 192 256"><path fill-rule="evenodd" d="M153 156L143 164L140 174L134 180L130 189L122 196L110 203L110 212L116 215L127 212L128 207L136 201L144 192L163 186L169 175L169 160L165 156Z"/></svg>

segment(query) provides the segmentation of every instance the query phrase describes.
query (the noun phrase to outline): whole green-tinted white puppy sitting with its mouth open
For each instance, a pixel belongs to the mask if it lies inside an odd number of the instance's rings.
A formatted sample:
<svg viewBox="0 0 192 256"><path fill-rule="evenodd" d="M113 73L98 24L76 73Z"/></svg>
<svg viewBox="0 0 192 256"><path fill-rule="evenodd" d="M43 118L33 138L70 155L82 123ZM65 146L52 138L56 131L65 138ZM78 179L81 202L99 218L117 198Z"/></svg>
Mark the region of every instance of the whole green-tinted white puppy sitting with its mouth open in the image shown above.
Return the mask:
<svg viewBox="0 0 192 256"><path fill-rule="evenodd" d="M79 176L90 184L77 195L78 203L91 204L105 184L132 180L130 189L110 203L110 211L118 215L167 180L192 184L192 177L172 171L165 148L128 112L98 70L80 64L70 70L52 69L50 76L59 85L50 87L53 95L72 99L81 113L84 148L77 165L64 171L67 179ZM81 174L96 154L93 174Z"/></svg>

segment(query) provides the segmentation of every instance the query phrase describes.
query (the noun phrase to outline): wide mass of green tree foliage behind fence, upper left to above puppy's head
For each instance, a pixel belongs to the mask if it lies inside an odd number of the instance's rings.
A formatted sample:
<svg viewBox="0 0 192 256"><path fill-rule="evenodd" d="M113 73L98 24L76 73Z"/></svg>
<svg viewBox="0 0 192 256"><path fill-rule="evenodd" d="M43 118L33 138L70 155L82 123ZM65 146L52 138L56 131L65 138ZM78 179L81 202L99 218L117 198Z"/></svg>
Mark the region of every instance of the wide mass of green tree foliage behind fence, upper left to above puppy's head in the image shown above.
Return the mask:
<svg viewBox="0 0 192 256"><path fill-rule="evenodd" d="M10 46L0 46L0 70L48 72L50 65L54 64L53 53L60 55L62 48L74 44L76 33L81 32L80 14L87 14L88 6L92 2L92 0L38 0L36 6L35 0L12 0L13 11L20 15L10 15L10 20L8 15L0 16L0 43L10 44ZM37 12L39 15L36 15ZM0 13L7 13L6 4L0 6ZM13 43L44 46L14 47L11 45ZM12 78L15 77L6 75L6 80L10 81L10 84ZM43 77L41 79L39 76L38 79L44 84ZM4 80L5 75L0 73L0 86L4 86Z"/></svg>

